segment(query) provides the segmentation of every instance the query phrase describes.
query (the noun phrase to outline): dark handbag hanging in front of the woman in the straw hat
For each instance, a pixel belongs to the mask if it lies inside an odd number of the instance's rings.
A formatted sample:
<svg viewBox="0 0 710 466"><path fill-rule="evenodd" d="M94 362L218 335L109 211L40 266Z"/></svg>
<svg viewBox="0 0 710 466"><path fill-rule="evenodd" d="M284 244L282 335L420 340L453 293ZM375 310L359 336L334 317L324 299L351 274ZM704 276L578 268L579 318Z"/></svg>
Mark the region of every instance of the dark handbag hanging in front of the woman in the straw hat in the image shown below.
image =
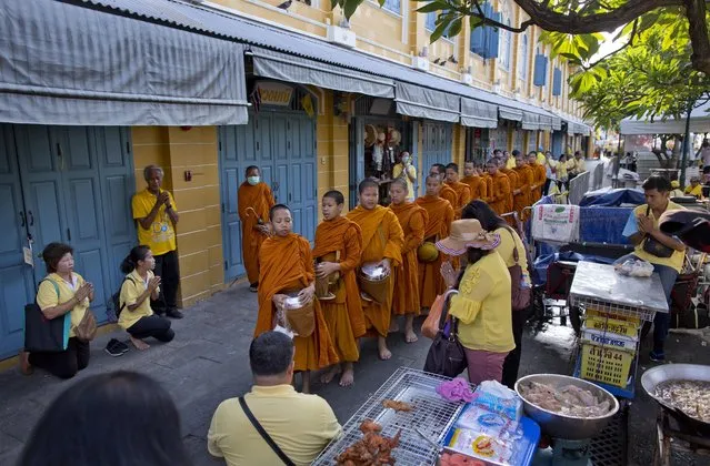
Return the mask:
<svg viewBox="0 0 710 466"><path fill-rule="evenodd" d="M446 377L456 377L466 371L468 362L463 345L461 345L457 335L459 320L456 317L447 318L449 316L449 300L450 295L447 296L443 303L443 310L439 318L439 332L431 343L431 347L429 347L424 372Z"/></svg>

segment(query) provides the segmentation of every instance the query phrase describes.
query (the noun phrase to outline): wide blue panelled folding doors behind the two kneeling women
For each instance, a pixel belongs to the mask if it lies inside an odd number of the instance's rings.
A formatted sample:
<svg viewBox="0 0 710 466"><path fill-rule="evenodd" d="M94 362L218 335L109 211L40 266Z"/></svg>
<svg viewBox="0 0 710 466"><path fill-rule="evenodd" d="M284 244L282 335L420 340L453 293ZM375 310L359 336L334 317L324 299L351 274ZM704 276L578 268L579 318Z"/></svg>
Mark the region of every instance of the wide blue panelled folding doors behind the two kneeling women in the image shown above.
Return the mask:
<svg viewBox="0 0 710 466"><path fill-rule="evenodd" d="M41 125L2 125L1 131L0 163L7 170L0 171L14 172L12 186L3 189L14 194L8 199L3 194L0 217L4 224L16 220L17 235L0 247L7 254L0 269L13 263L18 274L16 283L0 283L0 293L12 293L22 305L32 301L36 284L47 274L38 253L54 241L69 243L74 249L74 270L94 285L91 308L100 323L106 322L108 302L121 281L118 265L136 243L128 131ZM33 271L17 259L22 257L28 236L33 240ZM0 304L0 357L22 345L22 332L18 332L24 324L22 305L9 306L7 300Z"/></svg>

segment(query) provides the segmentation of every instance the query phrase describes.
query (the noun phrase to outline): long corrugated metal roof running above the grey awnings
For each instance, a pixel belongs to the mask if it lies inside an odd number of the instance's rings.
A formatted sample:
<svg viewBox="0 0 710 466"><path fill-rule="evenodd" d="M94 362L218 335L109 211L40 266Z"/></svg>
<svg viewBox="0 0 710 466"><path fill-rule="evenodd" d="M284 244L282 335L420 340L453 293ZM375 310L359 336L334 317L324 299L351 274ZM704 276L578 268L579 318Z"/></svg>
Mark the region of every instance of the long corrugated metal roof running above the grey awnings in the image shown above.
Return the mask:
<svg viewBox="0 0 710 466"><path fill-rule="evenodd" d="M543 115L554 115L544 109L493 94L480 89L421 72L404 64L349 50L308 36L279 29L259 21L232 16L209 7L178 0L60 0L120 14L148 19L159 23L247 42L294 55L309 58L347 69L391 78L469 99L521 109Z"/></svg>

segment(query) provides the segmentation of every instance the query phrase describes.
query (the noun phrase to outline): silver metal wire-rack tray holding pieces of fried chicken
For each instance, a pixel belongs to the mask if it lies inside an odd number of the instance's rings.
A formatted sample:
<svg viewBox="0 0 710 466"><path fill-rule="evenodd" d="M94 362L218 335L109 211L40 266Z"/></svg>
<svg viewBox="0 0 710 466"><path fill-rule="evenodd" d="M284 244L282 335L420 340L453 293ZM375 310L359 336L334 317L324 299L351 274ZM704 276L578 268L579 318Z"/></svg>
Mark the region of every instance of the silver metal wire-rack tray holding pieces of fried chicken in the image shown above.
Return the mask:
<svg viewBox="0 0 710 466"><path fill-rule="evenodd" d="M401 429L400 444L392 450L398 465L432 465L439 449L430 445L414 428L429 439L439 443L447 434L464 403L451 403L441 398L436 389L449 381L434 374L400 367L352 415L343 426L343 434L326 447L313 465L333 465L336 457L362 438L360 424L372 419L382 426L382 435L393 437ZM384 399L394 399L413 405L411 412L396 412L382 406Z"/></svg>

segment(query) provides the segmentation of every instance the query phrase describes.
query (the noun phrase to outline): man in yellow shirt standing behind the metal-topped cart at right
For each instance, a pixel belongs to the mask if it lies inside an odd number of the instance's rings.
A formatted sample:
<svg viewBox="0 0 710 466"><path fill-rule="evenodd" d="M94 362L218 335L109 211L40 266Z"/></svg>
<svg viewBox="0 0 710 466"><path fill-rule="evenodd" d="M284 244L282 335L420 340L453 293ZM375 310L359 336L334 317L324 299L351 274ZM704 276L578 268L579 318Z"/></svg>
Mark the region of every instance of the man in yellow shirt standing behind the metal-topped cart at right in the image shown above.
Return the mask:
<svg viewBox="0 0 710 466"><path fill-rule="evenodd" d="M629 216L623 235L636 245L632 254L619 259L617 262L623 262L629 256L638 257L653 264L653 271L661 278L661 285L666 293L666 300L670 307L670 295L683 266L686 256L686 245L677 237L669 236L661 232L658 227L658 219L666 211L683 209L682 206L669 200L671 189L670 181L662 176L650 176L643 182L643 193L646 195L646 204L639 205ZM653 241L660 243L668 249L670 255L663 254L662 251L654 251L656 254L648 252L647 242ZM653 351L651 351L651 361L660 362L666 358L663 352L663 343L668 336L670 326L670 313L656 313L653 318Z"/></svg>

